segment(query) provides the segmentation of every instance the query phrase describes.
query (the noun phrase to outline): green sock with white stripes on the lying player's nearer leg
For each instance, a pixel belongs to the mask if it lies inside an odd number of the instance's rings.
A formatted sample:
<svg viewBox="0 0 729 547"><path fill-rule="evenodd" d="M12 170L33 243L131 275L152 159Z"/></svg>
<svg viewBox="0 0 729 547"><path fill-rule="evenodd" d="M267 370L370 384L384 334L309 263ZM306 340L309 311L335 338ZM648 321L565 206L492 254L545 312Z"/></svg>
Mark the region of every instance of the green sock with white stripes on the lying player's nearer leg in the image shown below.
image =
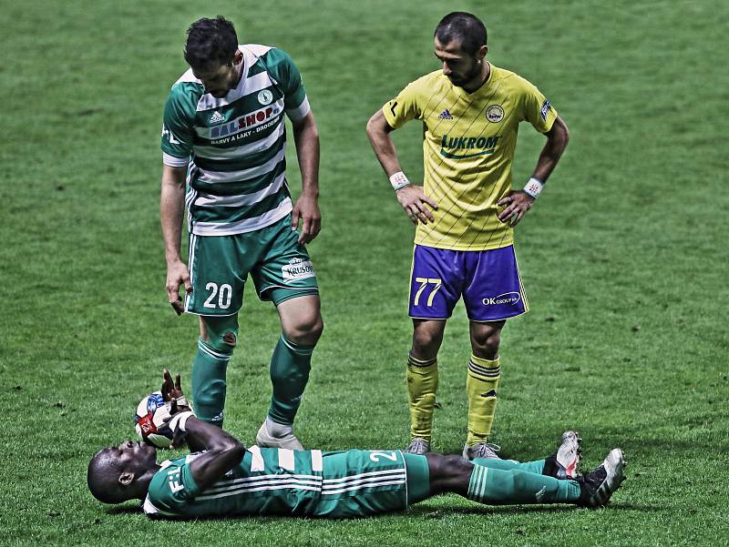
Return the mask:
<svg viewBox="0 0 729 547"><path fill-rule="evenodd" d="M466 497L490 505L573 503L580 498L580 483L529 471L474 465Z"/></svg>

